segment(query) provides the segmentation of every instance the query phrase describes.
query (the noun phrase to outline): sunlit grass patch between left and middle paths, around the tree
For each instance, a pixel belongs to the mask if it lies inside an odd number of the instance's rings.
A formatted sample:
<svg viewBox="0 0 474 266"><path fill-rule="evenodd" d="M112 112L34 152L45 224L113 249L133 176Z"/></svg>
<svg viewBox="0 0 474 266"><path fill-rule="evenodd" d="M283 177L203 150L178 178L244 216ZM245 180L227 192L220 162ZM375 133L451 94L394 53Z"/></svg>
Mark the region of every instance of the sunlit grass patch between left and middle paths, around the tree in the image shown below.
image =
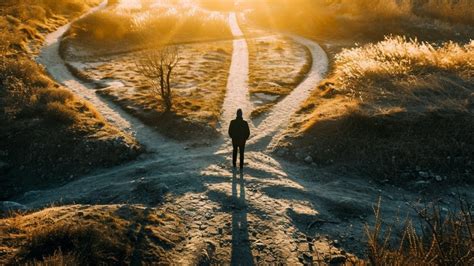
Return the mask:
<svg viewBox="0 0 474 266"><path fill-rule="evenodd" d="M180 62L173 71L173 109L165 114L160 97L152 93L149 81L137 72L141 52L113 56L68 57L78 60L76 72L95 80L100 94L111 98L126 111L160 132L177 139L210 137L224 101L232 42L187 44L180 48Z"/></svg>

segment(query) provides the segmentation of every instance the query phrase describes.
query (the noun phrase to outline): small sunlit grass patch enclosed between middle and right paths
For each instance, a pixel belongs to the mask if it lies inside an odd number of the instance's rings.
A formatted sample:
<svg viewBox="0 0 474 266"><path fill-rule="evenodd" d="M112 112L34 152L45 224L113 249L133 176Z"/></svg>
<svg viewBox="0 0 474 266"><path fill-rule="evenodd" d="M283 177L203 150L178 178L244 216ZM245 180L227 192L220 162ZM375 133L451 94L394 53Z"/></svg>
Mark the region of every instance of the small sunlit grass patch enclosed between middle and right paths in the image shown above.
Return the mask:
<svg viewBox="0 0 474 266"><path fill-rule="evenodd" d="M311 52L289 38L248 39L249 92L256 117L291 93L311 69Z"/></svg>

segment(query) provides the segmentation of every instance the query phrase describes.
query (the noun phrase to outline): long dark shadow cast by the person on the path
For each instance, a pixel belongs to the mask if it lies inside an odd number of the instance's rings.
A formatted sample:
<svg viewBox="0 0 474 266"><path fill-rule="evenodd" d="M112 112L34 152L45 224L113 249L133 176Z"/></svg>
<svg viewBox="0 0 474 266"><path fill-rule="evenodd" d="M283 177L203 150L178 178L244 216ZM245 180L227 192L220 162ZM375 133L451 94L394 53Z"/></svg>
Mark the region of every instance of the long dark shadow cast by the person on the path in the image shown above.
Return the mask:
<svg viewBox="0 0 474 266"><path fill-rule="evenodd" d="M240 194L237 194L237 183ZM243 172L237 178L237 171L232 174L232 258L231 265L253 265L252 252L247 222L247 205L245 202L245 181Z"/></svg>

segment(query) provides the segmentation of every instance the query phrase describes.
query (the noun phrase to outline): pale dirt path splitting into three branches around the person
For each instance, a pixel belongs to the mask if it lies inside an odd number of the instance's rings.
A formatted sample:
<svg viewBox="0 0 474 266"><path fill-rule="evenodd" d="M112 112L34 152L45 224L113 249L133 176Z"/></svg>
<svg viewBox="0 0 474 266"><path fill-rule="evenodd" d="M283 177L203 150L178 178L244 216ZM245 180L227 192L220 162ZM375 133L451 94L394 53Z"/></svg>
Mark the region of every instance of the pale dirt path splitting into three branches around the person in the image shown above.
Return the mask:
<svg viewBox="0 0 474 266"><path fill-rule="evenodd" d="M383 199L382 215L393 219L399 208L406 209L419 196L337 171L291 164L266 152L327 70L327 57L319 45L297 36L293 38L309 47L313 68L258 128L253 127L246 167L243 173L233 172L226 125L237 107L243 107L247 115L252 108L246 84L248 51L238 24L232 22L234 16L230 15L230 22L237 39L222 111L223 137L205 147L166 139L97 96L67 71L58 55L59 37L68 26L49 35L39 62L59 82L92 102L109 122L136 136L150 152L137 161L98 170L56 189L28 192L16 201L31 208L53 202L153 207L150 194L136 193L138 184L145 183L150 188L166 187L168 201L158 208L172 205L186 221L187 239L170 251L178 253L178 263L189 262L204 242L216 260L232 264L327 262L342 249L361 254L363 226L372 221L371 207L377 198ZM443 204L453 204L450 193L456 189L439 195Z"/></svg>

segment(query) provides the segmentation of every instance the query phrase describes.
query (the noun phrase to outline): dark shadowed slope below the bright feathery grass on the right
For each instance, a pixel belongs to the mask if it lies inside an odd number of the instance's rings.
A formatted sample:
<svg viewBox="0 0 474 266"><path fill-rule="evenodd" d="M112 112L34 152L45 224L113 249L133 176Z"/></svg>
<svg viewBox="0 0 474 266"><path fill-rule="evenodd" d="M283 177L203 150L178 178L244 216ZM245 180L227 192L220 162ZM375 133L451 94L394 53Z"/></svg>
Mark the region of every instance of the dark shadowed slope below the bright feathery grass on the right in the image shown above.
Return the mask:
<svg viewBox="0 0 474 266"><path fill-rule="evenodd" d="M379 181L471 182L474 118L428 112L322 119L305 134L285 139L280 154L311 156L320 166L343 164ZM292 144L290 144L292 143Z"/></svg>

